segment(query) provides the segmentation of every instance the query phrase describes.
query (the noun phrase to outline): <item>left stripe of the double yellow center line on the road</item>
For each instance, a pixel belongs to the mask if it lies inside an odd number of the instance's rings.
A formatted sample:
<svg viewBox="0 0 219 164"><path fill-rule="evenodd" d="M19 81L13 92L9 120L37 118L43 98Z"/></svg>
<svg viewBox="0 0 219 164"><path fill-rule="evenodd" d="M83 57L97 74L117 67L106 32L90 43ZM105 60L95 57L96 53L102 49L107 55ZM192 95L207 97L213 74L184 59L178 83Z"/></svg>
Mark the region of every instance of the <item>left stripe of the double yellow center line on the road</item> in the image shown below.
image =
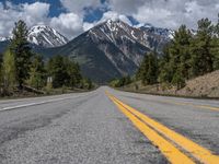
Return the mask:
<svg viewBox="0 0 219 164"><path fill-rule="evenodd" d="M166 159L173 164L194 164L194 162L176 149L172 143L163 139L158 132L152 130L149 126L138 119L135 115L128 112L119 103L114 101L112 96L111 99L116 104L123 114L125 114L131 122L154 144L160 151L166 156Z"/></svg>

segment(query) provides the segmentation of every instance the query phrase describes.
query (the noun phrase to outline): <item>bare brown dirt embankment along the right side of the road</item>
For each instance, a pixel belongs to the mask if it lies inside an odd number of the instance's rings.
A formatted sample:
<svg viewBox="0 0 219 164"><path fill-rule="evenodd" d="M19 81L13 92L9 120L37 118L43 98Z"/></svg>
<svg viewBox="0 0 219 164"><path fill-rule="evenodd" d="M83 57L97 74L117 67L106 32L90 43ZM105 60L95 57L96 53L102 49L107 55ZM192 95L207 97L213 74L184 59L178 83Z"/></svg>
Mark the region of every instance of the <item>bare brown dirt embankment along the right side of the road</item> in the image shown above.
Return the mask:
<svg viewBox="0 0 219 164"><path fill-rule="evenodd" d="M189 97L219 97L219 70L203 77L188 80L186 86L176 90L174 87L163 87L161 85L141 85L140 82L125 86L126 91L135 91L150 94L178 95Z"/></svg>

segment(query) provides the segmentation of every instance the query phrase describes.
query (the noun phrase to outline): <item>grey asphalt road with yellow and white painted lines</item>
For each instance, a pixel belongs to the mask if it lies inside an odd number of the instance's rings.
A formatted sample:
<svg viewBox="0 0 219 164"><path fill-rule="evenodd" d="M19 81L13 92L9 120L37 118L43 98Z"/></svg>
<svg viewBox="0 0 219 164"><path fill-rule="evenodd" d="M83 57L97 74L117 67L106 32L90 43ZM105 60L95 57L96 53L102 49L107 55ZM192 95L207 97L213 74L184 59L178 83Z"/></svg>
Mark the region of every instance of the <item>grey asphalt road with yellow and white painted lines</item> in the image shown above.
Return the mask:
<svg viewBox="0 0 219 164"><path fill-rule="evenodd" d="M0 101L0 163L219 164L219 101L106 86Z"/></svg>

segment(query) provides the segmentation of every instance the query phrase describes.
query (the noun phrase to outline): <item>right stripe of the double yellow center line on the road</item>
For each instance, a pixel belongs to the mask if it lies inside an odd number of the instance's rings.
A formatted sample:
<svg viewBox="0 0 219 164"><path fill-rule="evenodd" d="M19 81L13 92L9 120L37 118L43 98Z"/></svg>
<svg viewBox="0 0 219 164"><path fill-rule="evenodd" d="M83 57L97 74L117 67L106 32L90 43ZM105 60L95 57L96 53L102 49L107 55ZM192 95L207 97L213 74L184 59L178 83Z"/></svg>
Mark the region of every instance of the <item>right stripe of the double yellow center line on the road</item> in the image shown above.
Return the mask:
<svg viewBox="0 0 219 164"><path fill-rule="evenodd" d="M194 157L199 160L203 163L206 164L219 164L219 156L214 155L209 150L198 145L197 143L191 141L189 139L183 137L180 133L176 133L175 131L169 129L168 127L159 124L158 121L151 119L150 117L139 113L138 110L134 109L132 107L124 104L123 102L118 101L114 97L114 101L116 101L118 104L124 106L124 108L128 109L130 113L139 117L141 120L143 120L147 125L153 127L157 131L185 149L187 152L191 153Z"/></svg>

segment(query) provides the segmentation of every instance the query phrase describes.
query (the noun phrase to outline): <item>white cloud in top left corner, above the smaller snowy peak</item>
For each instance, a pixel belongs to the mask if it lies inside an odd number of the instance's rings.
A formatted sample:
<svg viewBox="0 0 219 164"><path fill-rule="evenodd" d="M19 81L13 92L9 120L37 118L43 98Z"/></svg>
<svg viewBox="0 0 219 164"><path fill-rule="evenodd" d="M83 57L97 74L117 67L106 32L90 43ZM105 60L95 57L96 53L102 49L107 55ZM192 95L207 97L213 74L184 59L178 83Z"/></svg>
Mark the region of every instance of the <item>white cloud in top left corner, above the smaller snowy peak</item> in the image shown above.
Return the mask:
<svg viewBox="0 0 219 164"><path fill-rule="evenodd" d="M24 20L28 26L47 22L49 4L35 2L13 5L7 2L4 8L0 2L0 36L9 36L18 20Z"/></svg>

